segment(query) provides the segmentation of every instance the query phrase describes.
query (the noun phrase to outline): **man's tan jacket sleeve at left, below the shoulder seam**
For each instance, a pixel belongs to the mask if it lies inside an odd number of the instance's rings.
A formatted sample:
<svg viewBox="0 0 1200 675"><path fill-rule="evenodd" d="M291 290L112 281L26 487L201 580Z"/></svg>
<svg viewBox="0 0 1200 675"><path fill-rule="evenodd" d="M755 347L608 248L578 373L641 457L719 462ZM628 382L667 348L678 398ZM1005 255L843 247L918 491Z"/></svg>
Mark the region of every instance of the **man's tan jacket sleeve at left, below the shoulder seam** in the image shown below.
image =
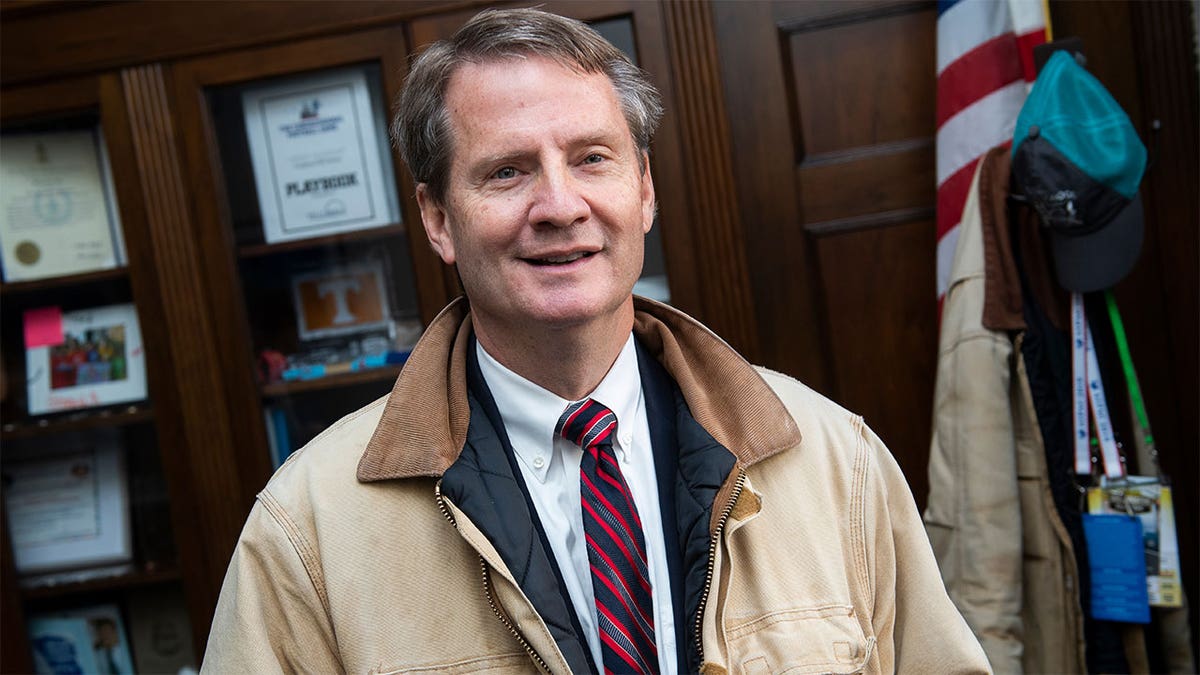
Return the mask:
<svg viewBox="0 0 1200 675"><path fill-rule="evenodd" d="M203 673L344 670L312 551L270 495L259 495L221 587Z"/></svg>

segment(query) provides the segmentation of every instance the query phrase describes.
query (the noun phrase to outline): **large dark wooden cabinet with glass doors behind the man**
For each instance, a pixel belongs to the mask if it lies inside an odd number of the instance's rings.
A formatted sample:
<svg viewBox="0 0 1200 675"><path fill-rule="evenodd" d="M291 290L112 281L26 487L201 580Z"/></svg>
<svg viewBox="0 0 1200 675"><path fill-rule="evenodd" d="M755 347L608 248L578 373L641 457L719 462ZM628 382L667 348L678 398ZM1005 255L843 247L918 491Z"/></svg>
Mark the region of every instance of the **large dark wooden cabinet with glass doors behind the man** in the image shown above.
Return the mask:
<svg viewBox="0 0 1200 675"><path fill-rule="evenodd" d="M454 270L426 243L415 187L380 120L390 117L413 55L482 5L32 1L0 8L4 130L98 124L128 249L128 264L116 270L0 287L10 389L0 420L4 459L64 434L115 430L131 501L139 504L134 565L115 578L20 590L28 580L14 572L12 537L4 533L0 670L30 669L23 623L30 615L96 602L125 608L145 587L186 598L196 657L203 656L257 491L290 450L385 395L413 336L460 293ZM548 8L593 23L666 98L652 153L661 215L638 292L700 316L752 352L737 223L730 195L713 189L713 180L728 179L720 171L727 149L694 142L721 137L722 118L707 107L715 100L712 54L683 40L703 30L707 8L634 0ZM383 175L373 185L385 193L389 216L370 227L269 237L274 226L264 226L256 171L271 160L248 131L247 101L258 114L263 92L340 77L365 83L359 95L371 119L358 124L377 141L365 150L379 159ZM362 330L314 330L302 294L326 274L382 280L378 321ZM146 400L29 414L19 395L25 309L108 301L137 306Z"/></svg>

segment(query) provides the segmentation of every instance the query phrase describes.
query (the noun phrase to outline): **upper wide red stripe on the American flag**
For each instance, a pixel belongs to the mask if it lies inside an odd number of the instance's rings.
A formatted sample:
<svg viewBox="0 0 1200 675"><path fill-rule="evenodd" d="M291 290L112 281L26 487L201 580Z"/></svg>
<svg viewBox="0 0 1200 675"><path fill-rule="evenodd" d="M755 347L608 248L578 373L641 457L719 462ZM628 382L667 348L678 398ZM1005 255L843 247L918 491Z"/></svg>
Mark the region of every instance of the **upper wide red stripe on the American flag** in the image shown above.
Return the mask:
<svg viewBox="0 0 1200 675"><path fill-rule="evenodd" d="M1021 77L1021 59L1012 32L997 35L967 52L937 76L937 126Z"/></svg>

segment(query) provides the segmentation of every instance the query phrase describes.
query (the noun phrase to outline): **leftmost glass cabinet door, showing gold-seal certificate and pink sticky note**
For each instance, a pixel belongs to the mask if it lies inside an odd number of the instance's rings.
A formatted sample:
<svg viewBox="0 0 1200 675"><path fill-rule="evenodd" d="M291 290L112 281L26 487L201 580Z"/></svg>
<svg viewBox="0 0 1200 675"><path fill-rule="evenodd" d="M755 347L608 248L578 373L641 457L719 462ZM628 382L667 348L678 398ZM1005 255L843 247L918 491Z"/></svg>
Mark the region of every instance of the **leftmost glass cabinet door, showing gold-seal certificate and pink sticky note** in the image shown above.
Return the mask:
<svg viewBox="0 0 1200 675"><path fill-rule="evenodd" d="M18 597L2 602L24 616L5 639L40 670L178 670L198 662L162 461L173 413L154 405L164 350L131 280L106 82L5 91L0 479ZM169 649L149 638L166 633Z"/></svg>

